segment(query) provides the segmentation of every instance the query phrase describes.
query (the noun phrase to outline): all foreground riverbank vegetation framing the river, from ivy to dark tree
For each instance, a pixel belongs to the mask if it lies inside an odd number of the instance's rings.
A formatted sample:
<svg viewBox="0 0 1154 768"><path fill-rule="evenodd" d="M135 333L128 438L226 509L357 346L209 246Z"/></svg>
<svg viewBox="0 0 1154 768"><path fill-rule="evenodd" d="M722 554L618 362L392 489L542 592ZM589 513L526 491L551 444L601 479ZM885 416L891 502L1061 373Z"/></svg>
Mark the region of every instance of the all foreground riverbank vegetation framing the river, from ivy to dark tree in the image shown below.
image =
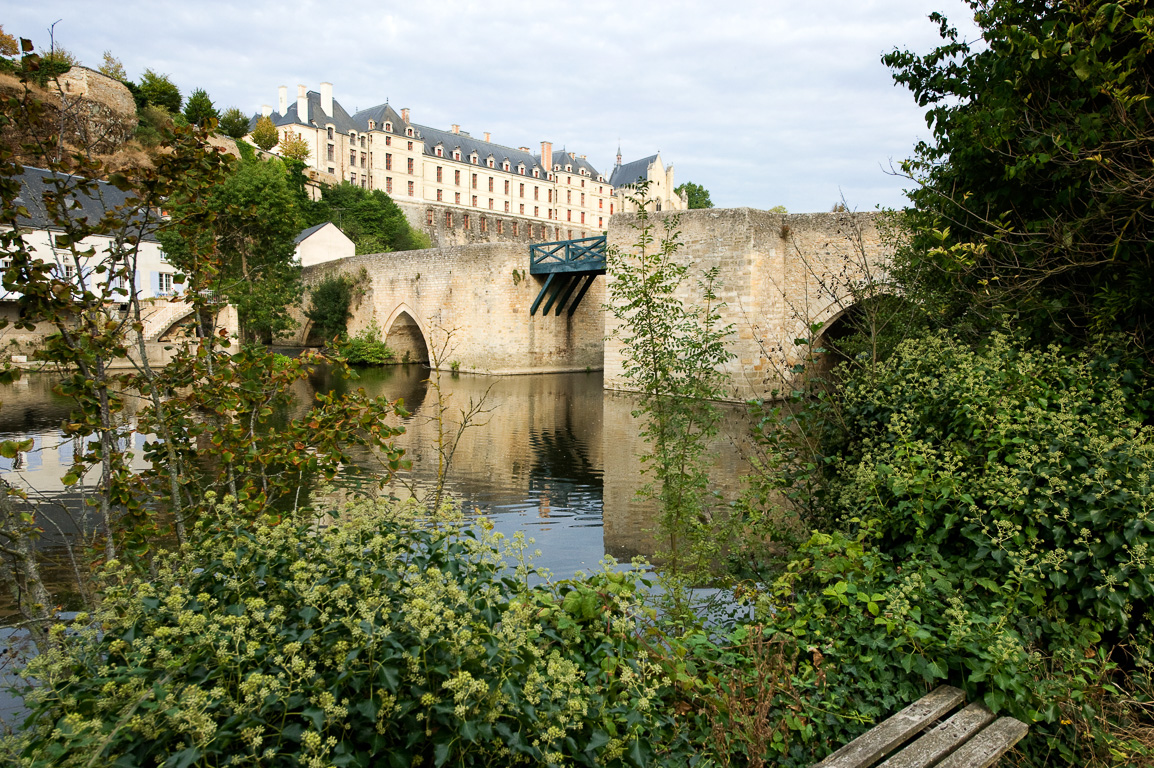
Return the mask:
<svg viewBox="0 0 1154 768"><path fill-rule="evenodd" d="M98 469L105 534L87 554L100 600L65 627L18 557L35 510L5 507L7 582L44 649L8 754L807 766L950 683L1031 725L1012 765L1148 765L1152 16L1141 2L969 5L981 44L936 17L938 50L886 57L934 131L904 166L917 188L898 217L894 295L871 304L900 307L900 327L864 315L839 340L837 386L784 382L785 405L751 405L775 417L755 419L765 472L744 496L724 499L705 461L709 399L726 385L714 278L681 301L676 223L644 213L637 248L610 257L645 492L669 542L657 598L644 582L659 575L640 569L531 579L523 542L447 519L440 490L424 507L305 492L353 465L350 442L382 474L399 468L399 408L328 396L269 429L315 359L222 354L211 323L168 366L112 375L105 361L138 341L132 308L54 291L18 233L0 234L5 287L24 292L25 317L59 322L44 354L77 371L66 429L90 447L66 482ZM204 138L174 128L165 165L118 176L130 211L90 223L63 206L65 246L170 195L195 201L225 172ZM10 223L15 166L0 159ZM180 219L196 234L193 296L225 269L220 220ZM133 248L120 238L107 262L127 280ZM810 359L832 352L823 330L800 339ZM128 397L144 404L135 429L157 436L144 472L122 447ZM747 618L706 625L691 590L706 582Z"/></svg>

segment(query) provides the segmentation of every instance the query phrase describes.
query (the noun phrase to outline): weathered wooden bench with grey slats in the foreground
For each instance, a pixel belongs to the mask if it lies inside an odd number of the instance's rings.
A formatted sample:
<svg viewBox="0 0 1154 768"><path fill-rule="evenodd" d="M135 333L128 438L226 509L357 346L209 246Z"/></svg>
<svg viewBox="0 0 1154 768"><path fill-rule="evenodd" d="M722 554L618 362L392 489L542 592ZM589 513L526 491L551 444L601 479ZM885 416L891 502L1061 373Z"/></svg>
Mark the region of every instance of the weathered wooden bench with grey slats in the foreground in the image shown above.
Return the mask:
<svg viewBox="0 0 1154 768"><path fill-rule="evenodd" d="M958 688L935 688L875 725L814 768L987 768L1026 736L1029 726L965 701ZM911 741L911 739L916 740ZM907 744L908 743L908 744Z"/></svg>

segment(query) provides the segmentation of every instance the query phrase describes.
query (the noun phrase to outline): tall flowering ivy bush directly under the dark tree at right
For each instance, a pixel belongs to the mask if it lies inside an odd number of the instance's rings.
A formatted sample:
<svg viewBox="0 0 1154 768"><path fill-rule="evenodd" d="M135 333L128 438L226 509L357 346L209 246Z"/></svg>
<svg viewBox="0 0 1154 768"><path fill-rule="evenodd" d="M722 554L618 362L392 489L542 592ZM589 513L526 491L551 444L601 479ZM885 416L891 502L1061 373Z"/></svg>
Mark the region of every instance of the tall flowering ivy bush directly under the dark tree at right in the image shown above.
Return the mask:
<svg viewBox="0 0 1154 768"><path fill-rule="evenodd" d="M913 340L874 376L845 387L838 514L876 520L899 558L932 545L973 579L1020 583L1043 625L1151 631L1154 432L1132 376L1002 334L981 351Z"/></svg>

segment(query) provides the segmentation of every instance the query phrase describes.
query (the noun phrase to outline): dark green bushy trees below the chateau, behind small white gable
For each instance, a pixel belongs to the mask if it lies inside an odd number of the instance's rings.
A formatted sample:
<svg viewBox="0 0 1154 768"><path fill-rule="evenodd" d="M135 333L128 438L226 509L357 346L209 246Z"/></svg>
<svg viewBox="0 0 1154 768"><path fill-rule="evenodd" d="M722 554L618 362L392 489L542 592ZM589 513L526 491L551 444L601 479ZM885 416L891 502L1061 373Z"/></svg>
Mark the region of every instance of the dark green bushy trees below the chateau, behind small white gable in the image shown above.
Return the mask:
<svg viewBox="0 0 1154 768"><path fill-rule="evenodd" d="M380 189L325 187L306 210L309 226L332 221L355 243L358 255L429 247L428 236L410 226L404 211Z"/></svg>

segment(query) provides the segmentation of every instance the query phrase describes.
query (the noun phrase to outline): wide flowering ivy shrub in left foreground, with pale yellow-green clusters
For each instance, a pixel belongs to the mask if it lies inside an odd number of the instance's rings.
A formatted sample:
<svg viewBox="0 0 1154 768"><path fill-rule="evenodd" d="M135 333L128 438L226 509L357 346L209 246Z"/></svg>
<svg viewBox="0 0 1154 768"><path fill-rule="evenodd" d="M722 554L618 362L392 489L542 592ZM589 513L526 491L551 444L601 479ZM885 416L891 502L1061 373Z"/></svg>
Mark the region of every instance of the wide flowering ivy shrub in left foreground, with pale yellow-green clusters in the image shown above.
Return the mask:
<svg viewBox="0 0 1154 768"><path fill-rule="evenodd" d="M637 577L531 587L497 540L373 502L208 535L55 628L23 765L684 763Z"/></svg>

